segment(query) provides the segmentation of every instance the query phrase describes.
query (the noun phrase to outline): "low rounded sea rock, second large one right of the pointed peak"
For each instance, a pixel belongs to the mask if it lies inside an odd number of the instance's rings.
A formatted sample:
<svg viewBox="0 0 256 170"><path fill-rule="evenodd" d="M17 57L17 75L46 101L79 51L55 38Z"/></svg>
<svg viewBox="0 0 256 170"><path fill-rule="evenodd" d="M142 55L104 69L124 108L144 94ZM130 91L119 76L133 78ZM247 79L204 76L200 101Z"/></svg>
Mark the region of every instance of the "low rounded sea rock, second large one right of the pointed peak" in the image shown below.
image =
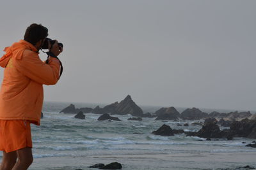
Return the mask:
<svg viewBox="0 0 256 170"><path fill-rule="evenodd" d="M198 120L206 117L208 117L208 114L198 110L197 108L188 108L180 114L180 118L184 120Z"/></svg>

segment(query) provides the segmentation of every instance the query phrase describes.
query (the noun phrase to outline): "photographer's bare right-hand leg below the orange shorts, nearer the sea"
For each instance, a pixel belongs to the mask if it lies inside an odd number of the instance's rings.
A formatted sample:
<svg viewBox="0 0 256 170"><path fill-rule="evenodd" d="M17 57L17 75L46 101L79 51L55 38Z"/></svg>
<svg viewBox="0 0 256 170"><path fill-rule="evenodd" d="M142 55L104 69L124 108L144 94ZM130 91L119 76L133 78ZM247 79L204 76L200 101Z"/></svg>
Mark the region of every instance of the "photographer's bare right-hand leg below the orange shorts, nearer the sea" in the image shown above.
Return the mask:
<svg viewBox="0 0 256 170"><path fill-rule="evenodd" d="M32 148L17 150L18 161L12 170L27 170L33 162Z"/></svg>

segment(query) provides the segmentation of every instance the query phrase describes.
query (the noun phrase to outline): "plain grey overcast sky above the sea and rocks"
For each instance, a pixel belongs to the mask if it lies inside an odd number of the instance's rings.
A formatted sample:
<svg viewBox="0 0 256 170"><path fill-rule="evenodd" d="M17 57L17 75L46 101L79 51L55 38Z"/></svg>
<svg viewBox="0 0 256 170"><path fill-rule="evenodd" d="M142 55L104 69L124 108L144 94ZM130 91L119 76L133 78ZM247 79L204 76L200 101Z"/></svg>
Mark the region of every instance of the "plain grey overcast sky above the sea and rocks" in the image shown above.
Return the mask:
<svg viewBox="0 0 256 170"><path fill-rule="evenodd" d="M32 23L64 45L63 75L44 86L45 101L110 104L130 94L139 105L256 110L256 1L0 6L0 55Z"/></svg>

